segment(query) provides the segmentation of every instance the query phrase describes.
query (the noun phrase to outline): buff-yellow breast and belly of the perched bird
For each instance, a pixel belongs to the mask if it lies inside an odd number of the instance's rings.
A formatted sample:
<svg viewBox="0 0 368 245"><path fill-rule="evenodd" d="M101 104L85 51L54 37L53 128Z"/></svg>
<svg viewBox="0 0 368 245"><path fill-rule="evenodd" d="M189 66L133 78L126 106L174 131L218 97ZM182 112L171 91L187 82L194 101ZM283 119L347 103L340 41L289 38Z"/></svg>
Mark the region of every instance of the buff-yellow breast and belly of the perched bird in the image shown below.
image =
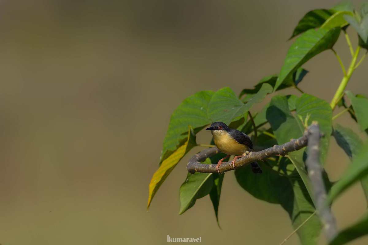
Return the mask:
<svg viewBox="0 0 368 245"><path fill-rule="evenodd" d="M247 145L238 143L225 130L215 130L211 133L217 148L227 155L243 155L248 150Z"/></svg>

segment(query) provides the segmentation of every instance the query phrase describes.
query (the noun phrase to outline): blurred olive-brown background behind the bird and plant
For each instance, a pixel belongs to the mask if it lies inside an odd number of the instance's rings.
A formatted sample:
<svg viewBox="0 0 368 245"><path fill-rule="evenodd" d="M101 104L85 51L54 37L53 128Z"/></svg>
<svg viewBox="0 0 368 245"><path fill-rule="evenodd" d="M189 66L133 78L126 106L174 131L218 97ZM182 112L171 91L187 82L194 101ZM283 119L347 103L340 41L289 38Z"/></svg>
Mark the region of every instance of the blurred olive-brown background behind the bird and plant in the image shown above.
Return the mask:
<svg viewBox="0 0 368 245"><path fill-rule="evenodd" d="M238 94L279 72L299 19L335 4L2 0L0 243L166 244L167 235L202 244L282 242L293 231L287 213L245 192L233 172L222 188L222 230L208 197L178 215L186 163L200 148L178 164L147 213L148 184L184 98L224 86ZM335 47L350 62L343 36ZM332 51L303 67L310 72L301 89L329 102L343 76ZM348 90L368 95L366 68L367 60ZM336 122L360 132L348 114ZM197 141L208 143L210 134ZM330 142L326 169L337 180L349 160ZM333 205L339 228L366 208L357 184ZM294 235L286 244L298 243Z"/></svg>

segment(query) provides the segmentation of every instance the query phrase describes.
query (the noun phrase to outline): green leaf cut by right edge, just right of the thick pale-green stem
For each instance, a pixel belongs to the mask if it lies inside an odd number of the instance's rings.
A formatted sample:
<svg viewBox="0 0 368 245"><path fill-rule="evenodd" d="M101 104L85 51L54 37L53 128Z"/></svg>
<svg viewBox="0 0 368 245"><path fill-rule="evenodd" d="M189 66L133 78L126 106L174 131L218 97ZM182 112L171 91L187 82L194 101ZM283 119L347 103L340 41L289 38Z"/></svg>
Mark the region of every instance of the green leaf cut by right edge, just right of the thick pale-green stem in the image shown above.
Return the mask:
<svg viewBox="0 0 368 245"><path fill-rule="evenodd" d="M368 128L368 99L355 97L350 91L346 91L346 95L353 106L360 129L366 130Z"/></svg>

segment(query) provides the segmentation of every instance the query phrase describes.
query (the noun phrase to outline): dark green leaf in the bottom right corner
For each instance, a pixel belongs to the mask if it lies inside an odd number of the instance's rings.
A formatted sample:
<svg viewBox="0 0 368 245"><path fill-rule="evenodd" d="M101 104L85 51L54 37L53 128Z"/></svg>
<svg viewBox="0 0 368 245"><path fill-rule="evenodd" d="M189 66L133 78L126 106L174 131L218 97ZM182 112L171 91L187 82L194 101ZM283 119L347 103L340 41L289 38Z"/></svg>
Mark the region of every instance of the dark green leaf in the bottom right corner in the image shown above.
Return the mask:
<svg viewBox="0 0 368 245"><path fill-rule="evenodd" d="M330 245L343 245L354 239L362 237L368 234L368 213L365 213L359 221L352 226L342 230L339 234L330 242Z"/></svg>

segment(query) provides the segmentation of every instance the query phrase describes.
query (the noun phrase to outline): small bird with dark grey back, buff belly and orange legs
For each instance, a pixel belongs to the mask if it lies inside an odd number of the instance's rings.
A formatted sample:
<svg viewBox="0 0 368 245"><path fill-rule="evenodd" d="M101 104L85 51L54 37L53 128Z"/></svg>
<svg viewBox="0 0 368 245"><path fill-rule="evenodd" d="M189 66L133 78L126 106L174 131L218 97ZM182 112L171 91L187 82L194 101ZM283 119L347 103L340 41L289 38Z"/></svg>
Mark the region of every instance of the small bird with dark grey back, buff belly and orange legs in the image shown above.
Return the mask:
<svg viewBox="0 0 368 245"><path fill-rule="evenodd" d="M217 163L216 170L218 173L220 173L219 166L221 163L224 163L222 162L224 159L234 155L235 157L231 161L230 166L235 169L234 163L236 159L248 155L248 149L253 149L253 143L247 134L236 129L230 129L223 122L214 122L206 130L211 130L215 145L227 155ZM262 173L262 169L257 162L252 162L251 166L253 173Z"/></svg>

